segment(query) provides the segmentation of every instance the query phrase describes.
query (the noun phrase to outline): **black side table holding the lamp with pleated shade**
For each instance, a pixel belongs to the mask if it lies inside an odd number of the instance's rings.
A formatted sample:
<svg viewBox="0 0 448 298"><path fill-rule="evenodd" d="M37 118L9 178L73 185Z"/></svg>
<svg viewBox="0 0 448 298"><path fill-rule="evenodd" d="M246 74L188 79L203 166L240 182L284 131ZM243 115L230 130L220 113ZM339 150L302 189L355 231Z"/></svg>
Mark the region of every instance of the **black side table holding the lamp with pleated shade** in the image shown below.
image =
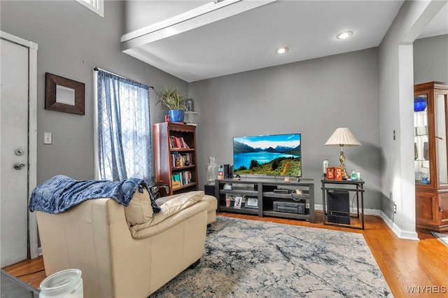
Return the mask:
<svg viewBox="0 0 448 298"><path fill-rule="evenodd" d="M323 225L364 229L364 180L321 180ZM361 225L351 225L350 192L356 193L356 215ZM348 200L348 201L347 201ZM359 208L360 201L360 208Z"/></svg>

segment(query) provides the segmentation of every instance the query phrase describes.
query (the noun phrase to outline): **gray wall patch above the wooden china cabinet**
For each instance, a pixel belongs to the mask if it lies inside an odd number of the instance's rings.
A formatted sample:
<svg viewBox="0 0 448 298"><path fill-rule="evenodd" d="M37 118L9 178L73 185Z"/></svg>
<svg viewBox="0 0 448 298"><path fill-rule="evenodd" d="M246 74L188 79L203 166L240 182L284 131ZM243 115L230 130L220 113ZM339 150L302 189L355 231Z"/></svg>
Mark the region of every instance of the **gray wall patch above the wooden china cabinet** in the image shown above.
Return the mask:
<svg viewBox="0 0 448 298"><path fill-rule="evenodd" d="M414 83L448 83L448 34L414 42Z"/></svg>

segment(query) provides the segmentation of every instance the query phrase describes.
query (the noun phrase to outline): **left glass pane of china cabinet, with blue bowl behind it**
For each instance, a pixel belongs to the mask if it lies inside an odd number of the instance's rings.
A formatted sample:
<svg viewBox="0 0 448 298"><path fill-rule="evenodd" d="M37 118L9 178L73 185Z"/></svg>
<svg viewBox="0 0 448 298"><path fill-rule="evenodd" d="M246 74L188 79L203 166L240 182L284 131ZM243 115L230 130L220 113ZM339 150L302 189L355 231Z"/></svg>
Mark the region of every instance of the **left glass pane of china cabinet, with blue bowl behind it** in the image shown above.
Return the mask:
<svg viewBox="0 0 448 298"><path fill-rule="evenodd" d="M415 184L430 184L428 139L428 93L414 97L414 171Z"/></svg>

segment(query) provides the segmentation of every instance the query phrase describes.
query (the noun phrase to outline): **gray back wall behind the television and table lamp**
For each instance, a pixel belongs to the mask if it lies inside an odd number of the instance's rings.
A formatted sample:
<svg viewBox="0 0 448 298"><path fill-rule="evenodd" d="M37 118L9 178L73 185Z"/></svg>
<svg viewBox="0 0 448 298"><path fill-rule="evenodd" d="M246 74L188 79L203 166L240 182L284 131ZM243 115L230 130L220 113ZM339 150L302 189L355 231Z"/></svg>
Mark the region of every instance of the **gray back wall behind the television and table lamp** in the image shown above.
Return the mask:
<svg viewBox="0 0 448 298"><path fill-rule="evenodd" d="M302 175L321 204L322 161L339 165L339 147L325 141L349 127L362 146L345 148L346 168L366 180L365 207L381 208L377 62L371 48L190 83L200 169L208 156L232 164L232 136L301 132Z"/></svg>

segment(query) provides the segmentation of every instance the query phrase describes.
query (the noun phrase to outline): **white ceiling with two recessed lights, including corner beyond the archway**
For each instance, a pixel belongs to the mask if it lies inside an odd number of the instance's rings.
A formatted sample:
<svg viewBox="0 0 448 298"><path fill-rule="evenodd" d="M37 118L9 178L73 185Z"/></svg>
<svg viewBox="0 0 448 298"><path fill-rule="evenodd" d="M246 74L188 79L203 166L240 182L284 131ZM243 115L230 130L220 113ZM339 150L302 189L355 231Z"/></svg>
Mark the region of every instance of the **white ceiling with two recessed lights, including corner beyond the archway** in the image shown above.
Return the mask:
<svg viewBox="0 0 448 298"><path fill-rule="evenodd" d="M225 2L230 5L225 6ZM271 1L270 3L268 3ZM255 4L254 4L255 3ZM239 1L125 34L122 49L193 82L377 47L403 1ZM215 4L215 3L210 3ZM253 6L258 6L253 8ZM246 11L243 11L246 10ZM243 11L243 12L241 12ZM193 15L194 15L193 11ZM448 34L448 4L419 38ZM338 40L342 31L353 36ZM286 46L284 55L276 48Z"/></svg>

